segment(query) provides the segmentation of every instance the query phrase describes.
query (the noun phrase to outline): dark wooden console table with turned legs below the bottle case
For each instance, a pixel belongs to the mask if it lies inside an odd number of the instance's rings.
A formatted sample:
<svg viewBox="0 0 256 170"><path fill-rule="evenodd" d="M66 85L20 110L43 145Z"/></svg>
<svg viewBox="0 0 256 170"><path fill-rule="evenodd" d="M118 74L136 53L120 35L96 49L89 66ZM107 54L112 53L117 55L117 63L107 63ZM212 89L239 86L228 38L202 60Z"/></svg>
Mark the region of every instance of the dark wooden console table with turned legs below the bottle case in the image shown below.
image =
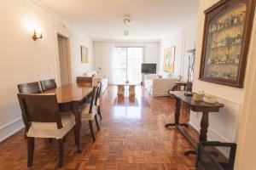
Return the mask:
<svg viewBox="0 0 256 170"><path fill-rule="evenodd" d="M174 123L167 123L166 127L175 126L177 129L183 134L183 136L189 140L189 142L196 148L196 141L189 136L189 133L185 132L181 126L188 126L186 123L180 123L180 106L181 101L185 104L189 105L191 111L202 112L201 116L201 130L199 140L201 142L207 141L207 128L209 126L209 112L218 112L219 108L224 107L223 104L208 104L204 101L195 101L192 97L185 96L184 91L171 91L169 94L174 96L176 99L176 108L175 108L175 122ZM195 150L189 150L184 153L185 155L189 154L196 154Z"/></svg>

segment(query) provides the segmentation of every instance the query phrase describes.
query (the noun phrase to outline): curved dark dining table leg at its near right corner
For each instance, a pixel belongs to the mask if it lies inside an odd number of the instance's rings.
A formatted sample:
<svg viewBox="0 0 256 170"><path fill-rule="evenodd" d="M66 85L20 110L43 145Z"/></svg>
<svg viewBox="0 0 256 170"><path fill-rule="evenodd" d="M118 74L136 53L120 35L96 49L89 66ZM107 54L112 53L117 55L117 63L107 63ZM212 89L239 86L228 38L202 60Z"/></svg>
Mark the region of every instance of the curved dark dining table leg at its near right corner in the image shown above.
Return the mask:
<svg viewBox="0 0 256 170"><path fill-rule="evenodd" d="M74 132L75 132L75 143L77 144L78 147L78 152L81 153L81 147L80 147L80 128L81 128L81 111L79 109L79 102L73 102L71 104L71 109L73 111L73 114L75 116L75 127L74 127Z"/></svg>

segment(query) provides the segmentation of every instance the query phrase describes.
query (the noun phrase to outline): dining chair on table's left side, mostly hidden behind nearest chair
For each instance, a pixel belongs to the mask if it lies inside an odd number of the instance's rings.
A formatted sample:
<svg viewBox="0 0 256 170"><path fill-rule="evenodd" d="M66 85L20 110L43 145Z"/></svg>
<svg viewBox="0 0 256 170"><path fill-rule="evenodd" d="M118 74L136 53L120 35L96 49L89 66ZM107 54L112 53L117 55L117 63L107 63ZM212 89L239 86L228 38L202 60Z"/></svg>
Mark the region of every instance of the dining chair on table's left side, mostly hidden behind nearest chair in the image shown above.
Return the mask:
<svg viewBox="0 0 256 170"><path fill-rule="evenodd" d="M18 84L17 85L19 93L23 94L40 94L42 93L42 90L40 88L40 83L39 82L28 82L24 84ZM20 104L20 100L19 100ZM21 104L20 104L21 105ZM21 111L21 116L22 116L22 121L24 122L25 125L25 133L24 133L24 138L26 139L26 132L28 129L26 129L27 121L26 121L26 113L24 111Z"/></svg>

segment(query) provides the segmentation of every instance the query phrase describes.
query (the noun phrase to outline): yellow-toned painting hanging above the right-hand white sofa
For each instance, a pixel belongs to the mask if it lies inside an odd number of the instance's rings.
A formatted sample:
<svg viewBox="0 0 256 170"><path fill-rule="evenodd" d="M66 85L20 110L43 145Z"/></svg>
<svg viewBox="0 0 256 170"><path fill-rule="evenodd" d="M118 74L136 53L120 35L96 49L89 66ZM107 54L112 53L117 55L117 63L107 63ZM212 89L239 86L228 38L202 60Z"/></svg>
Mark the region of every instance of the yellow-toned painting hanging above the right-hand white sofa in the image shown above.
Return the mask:
<svg viewBox="0 0 256 170"><path fill-rule="evenodd" d="M174 72L175 47L166 48L164 51L164 71Z"/></svg>

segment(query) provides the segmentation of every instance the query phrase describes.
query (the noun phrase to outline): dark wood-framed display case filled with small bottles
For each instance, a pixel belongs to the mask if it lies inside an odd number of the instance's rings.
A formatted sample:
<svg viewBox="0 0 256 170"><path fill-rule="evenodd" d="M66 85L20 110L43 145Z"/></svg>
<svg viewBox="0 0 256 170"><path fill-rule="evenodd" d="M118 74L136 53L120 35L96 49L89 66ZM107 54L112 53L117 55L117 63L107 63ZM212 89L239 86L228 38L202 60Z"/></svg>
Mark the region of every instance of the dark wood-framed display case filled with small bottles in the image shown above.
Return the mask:
<svg viewBox="0 0 256 170"><path fill-rule="evenodd" d="M255 0L222 0L205 11L199 79L243 87Z"/></svg>

